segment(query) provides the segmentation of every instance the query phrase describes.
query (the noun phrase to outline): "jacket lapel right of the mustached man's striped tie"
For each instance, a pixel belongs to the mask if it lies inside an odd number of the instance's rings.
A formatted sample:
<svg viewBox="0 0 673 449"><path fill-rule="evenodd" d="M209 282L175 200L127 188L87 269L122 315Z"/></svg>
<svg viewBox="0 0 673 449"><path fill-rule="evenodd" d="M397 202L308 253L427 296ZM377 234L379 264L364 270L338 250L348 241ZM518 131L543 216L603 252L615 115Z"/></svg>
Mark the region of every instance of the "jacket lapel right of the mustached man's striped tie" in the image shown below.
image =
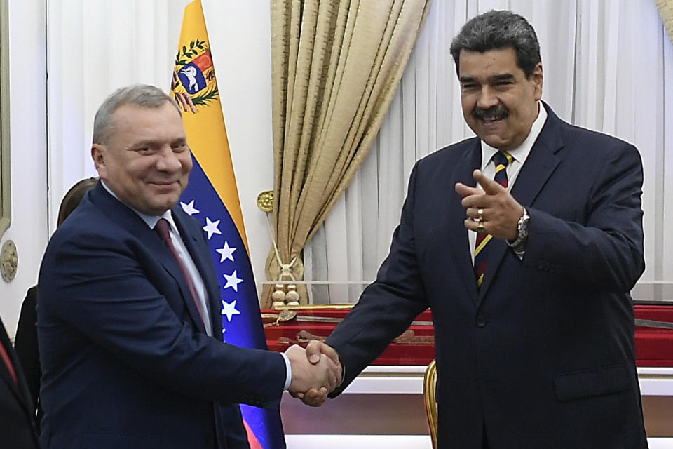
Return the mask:
<svg viewBox="0 0 673 449"><path fill-rule="evenodd" d="M556 154L563 146L559 128L560 120L546 104L545 109L548 114L547 121L510 192L523 206L530 206L535 201L536 196L561 161ZM508 246L505 241L492 239L489 242L489 259L484 272L484 283L479 288L480 301L488 292L506 251L508 251Z"/></svg>

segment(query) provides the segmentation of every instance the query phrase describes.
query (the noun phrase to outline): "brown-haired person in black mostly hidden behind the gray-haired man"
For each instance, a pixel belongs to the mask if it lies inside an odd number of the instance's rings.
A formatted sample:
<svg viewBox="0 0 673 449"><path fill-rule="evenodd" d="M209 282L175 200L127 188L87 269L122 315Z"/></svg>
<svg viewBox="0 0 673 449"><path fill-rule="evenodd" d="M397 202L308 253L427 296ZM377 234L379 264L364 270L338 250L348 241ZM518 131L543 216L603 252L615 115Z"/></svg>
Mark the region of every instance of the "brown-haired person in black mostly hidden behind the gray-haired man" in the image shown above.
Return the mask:
<svg viewBox="0 0 673 449"><path fill-rule="evenodd" d="M82 201L84 194L96 187L96 183L97 178L89 177L70 187L58 209L57 227L75 210L80 201ZM39 434L43 410L39 400L42 368L40 366L40 352L37 346L37 328L35 326L37 322L37 294L37 286L32 286L28 289L26 297L21 304L19 323L14 337L14 349L26 376L26 382L28 383L28 389L33 401L33 412L36 413L36 424Z"/></svg>

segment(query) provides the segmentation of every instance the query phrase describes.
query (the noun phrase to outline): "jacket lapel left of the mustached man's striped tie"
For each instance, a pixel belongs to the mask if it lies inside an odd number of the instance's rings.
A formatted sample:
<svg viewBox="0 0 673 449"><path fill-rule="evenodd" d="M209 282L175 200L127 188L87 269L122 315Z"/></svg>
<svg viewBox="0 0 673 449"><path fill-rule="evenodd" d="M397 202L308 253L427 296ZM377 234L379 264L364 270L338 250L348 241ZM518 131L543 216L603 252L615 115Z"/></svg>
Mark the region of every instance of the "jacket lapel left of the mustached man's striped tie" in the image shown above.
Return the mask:
<svg viewBox="0 0 673 449"><path fill-rule="evenodd" d="M461 204L461 196L456 194L454 186L456 182L462 182L465 185L475 186L477 183L472 177L475 168L481 166L482 152L480 140L474 139L474 144L465 151L463 157L456 163L453 175L451 176L451 185L449 186L451 201L449 208L449 237L451 239L451 248L456 248L450 251L458 267L460 278L465 284L465 288L470 292L470 298L473 302L477 302L477 281L475 279L475 270L470 257L470 241L468 239L468 229L465 228L465 208Z"/></svg>

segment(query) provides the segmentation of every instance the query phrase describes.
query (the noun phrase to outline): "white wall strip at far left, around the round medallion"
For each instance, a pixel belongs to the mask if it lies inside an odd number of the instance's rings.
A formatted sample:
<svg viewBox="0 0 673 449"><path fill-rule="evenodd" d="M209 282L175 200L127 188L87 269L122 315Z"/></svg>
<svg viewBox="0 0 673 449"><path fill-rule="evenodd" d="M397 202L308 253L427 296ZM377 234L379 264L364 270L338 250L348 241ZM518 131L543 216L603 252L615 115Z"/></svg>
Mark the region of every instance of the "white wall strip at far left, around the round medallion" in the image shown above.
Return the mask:
<svg viewBox="0 0 673 449"><path fill-rule="evenodd" d="M12 222L2 243L14 241L19 263L0 281L0 316L11 336L47 241L45 1L11 0L9 22Z"/></svg>

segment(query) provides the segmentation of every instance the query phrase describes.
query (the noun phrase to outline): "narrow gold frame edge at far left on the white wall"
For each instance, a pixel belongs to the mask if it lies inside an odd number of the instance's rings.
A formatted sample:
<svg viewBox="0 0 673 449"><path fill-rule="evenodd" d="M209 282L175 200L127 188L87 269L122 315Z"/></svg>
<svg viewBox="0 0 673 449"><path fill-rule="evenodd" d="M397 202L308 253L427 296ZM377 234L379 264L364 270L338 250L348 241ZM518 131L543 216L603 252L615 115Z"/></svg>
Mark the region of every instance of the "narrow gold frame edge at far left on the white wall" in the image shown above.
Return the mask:
<svg viewBox="0 0 673 449"><path fill-rule="evenodd" d="M9 1L0 0L0 237L12 220L9 123Z"/></svg>

